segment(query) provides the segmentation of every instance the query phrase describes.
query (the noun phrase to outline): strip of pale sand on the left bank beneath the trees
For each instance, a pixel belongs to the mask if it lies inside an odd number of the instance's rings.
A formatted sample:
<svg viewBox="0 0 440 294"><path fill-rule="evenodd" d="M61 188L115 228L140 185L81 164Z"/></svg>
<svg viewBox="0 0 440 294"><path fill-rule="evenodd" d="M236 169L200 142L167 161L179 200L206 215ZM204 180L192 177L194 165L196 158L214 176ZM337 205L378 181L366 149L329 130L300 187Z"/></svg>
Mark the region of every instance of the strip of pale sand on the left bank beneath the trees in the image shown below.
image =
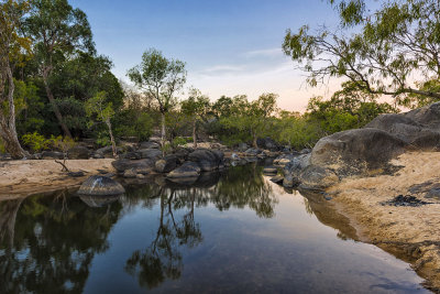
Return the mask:
<svg viewBox="0 0 440 294"><path fill-rule="evenodd" d="M112 159L66 161L70 171L82 171L85 173L82 177L67 176L62 172L62 166L53 160L0 162L0 197L6 199L78 186L87 176L98 174L98 170L114 172L112 161Z"/></svg>

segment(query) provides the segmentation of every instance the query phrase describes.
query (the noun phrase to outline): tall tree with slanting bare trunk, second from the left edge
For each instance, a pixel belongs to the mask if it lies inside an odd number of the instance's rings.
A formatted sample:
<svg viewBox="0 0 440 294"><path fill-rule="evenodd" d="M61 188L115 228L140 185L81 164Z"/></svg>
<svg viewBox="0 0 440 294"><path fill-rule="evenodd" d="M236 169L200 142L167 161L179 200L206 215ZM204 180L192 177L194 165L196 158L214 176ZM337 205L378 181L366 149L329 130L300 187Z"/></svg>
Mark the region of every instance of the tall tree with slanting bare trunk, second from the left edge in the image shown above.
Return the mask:
<svg viewBox="0 0 440 294"><path fill-rule="evenodd" d="M47 98L64 134L72 138L51 89L51 76L55 63L76 51L95 52L87 17L81 10L73 9L67 0L32 0L26 29L35 42L35 57Z"/></svg>

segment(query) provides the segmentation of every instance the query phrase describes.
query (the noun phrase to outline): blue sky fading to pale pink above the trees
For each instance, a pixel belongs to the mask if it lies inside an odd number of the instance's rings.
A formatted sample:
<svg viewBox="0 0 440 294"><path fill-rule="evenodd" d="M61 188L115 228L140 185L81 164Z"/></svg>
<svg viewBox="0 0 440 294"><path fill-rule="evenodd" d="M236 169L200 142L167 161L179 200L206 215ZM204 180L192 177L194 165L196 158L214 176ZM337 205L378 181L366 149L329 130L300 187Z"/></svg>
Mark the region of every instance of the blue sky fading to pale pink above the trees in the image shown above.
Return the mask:
<svg viewBox="0 0 440 294"><path fill-rule="evenodd" d="M88 15L99 54L113 74L128 69L151 47L186 63L187 86L217 100L221 95L279 95L278 107L304 111L314 95L339 83L310 88L305 73L282 51L287 29L338 23L326 0L70 0ZM187 92L187 91L186 91ZM184 94L183 94L183 97Z"/></svg>

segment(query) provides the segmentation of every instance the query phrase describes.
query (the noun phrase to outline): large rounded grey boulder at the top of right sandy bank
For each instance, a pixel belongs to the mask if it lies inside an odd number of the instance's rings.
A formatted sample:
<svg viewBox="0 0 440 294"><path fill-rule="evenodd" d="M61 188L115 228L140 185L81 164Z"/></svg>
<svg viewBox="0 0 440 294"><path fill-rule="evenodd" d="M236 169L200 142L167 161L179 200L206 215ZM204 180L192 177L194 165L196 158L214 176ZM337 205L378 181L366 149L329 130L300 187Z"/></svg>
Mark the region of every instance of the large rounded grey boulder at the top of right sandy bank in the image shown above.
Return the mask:
<svg viewBox="0 0 440 294"><path fill-rule="evenodd" d="M331 167L339 174L361 174L380 168L404 153L408 144L378 129L355 129L333 133L318 141L311 151L310 163Z"/></svg>

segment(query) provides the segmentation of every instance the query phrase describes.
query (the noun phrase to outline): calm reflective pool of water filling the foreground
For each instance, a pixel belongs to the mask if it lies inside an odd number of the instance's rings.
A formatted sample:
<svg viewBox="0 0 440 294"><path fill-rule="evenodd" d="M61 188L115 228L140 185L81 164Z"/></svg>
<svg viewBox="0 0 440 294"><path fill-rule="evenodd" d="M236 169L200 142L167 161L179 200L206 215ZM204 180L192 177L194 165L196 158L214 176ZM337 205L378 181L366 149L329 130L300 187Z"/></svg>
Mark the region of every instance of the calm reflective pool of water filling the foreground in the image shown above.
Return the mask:
<svg viewBox="0 0 440 294"><path fill-rule="evenodd" d="M111 199L2 202L0 293L427 292L407 263L352 241L326 204L261 170L193 187L156 181Z"/></svg>

